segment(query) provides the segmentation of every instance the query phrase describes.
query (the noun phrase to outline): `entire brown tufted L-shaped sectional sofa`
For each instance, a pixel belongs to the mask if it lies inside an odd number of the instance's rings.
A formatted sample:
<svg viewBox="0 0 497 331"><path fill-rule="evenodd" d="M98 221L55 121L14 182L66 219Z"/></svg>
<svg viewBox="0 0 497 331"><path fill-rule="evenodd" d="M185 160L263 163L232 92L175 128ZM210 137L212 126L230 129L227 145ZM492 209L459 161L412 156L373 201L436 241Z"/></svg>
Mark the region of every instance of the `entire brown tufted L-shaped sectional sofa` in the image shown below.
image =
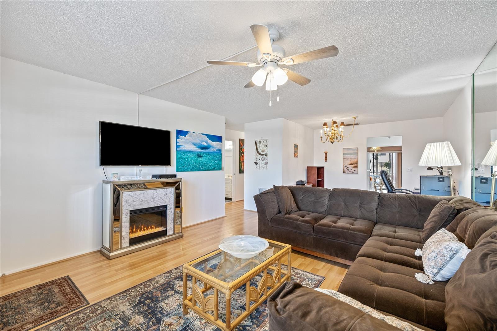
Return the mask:
<svg viewBox="0 0 497 331"><path fill-rule="evenodd" d="M423 330L447 329L445 287L450 280L423 284L414 277L423 270L421 257L415 256L414 251L423 247L420 234L433 207L442 199L454 199L451 204L458 215L447 230L469 248L497 232L497 211L463 197L300 186L289 189L300 210L291 215L279 213L273 190L254 197L258 235L317 255L353 260L338 291ZM497 256L497 251L489 256ZM489 286L495 288L496 273L493 277ZM476 296L482 295L485 293ZM490 307L497 306L492 298L489 300ZM306 330L391 330L389 325L381 326L382 321L374 321L347 306L326 294L289 282L268 300L270 329L283 331L292 325L306 325ZM468 325L450 329L478 330Z"/></svg>

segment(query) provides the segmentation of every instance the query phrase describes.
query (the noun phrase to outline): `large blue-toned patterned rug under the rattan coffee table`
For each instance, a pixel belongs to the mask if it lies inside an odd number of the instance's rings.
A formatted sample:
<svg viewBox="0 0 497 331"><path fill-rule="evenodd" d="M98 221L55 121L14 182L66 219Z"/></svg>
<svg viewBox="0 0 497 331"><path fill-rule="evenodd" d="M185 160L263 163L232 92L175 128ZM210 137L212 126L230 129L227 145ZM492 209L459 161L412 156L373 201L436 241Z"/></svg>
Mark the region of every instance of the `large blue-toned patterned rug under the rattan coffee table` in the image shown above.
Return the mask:
<svg viewBox="0 0 497 331"><path fill-rule="evenodd" d="M285 270L286 266L282 265ZM257 278L258 277L258 278ZM253 280L256 286L260 276ZM292 279L317 288L325 277L292 268ZM187 292L191 294L191 279ZM199 282L199 285L201 283ZM211 289L212 291L212 289ZM40 330L88 331L219 331L217 327L189 310L183 316L183 272L177 267L128 290L88 306ZM209 295L206 292L205 295ZM245 310L245 285L232 295L232 320ZM226 301L219 295L219 317L225 321ZM235 330L269 330L266 302L257 307Z"/></svg>

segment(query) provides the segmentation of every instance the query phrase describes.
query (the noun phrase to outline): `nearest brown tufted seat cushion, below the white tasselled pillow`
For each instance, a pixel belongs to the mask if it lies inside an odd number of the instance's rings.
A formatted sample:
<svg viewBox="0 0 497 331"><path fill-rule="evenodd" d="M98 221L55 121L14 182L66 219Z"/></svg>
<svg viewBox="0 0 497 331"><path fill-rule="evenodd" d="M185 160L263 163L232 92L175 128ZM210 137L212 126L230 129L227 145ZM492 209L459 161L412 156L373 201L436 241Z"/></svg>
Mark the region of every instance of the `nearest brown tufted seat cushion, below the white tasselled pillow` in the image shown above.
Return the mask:
<svg viewBox="0 0 497 331"><path fill-rule="evenodd" d="M338 291L359 302L435 330L445 330L445 285L427 286L414 277L417 269L358 257Z"/></svg>

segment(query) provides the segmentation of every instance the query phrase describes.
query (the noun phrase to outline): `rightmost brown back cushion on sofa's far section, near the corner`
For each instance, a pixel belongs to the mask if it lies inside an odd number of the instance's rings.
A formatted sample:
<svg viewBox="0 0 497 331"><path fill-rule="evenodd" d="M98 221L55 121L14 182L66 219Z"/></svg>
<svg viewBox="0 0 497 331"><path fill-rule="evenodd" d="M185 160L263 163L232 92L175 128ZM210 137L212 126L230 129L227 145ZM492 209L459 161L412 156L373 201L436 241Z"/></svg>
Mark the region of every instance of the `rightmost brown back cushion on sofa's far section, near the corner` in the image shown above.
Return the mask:
<svg viewBox="0 0 497 331"><path fill-rule="evenodd" d="M452 197L380 193L376 223L422 229L431 210L441 200L450 201Z"/></svg>

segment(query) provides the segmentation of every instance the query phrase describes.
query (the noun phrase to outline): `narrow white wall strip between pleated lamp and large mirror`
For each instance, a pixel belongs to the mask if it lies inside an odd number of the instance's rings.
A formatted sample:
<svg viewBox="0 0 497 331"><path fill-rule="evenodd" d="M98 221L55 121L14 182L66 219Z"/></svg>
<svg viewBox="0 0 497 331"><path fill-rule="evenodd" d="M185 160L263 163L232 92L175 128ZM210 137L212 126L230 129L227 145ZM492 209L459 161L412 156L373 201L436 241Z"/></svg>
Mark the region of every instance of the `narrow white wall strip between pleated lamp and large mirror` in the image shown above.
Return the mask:
<svg viewBox="0 0 497 331"><path fill-rule="evenodd" d="M490 146L490 130L488 136L487 146ZM456 182L459 195L471 198L471 81L466 84L443 116L443 141L450 142L461 161L459 166L444 169L452 169L454 173L452 179Z"/></svg>

